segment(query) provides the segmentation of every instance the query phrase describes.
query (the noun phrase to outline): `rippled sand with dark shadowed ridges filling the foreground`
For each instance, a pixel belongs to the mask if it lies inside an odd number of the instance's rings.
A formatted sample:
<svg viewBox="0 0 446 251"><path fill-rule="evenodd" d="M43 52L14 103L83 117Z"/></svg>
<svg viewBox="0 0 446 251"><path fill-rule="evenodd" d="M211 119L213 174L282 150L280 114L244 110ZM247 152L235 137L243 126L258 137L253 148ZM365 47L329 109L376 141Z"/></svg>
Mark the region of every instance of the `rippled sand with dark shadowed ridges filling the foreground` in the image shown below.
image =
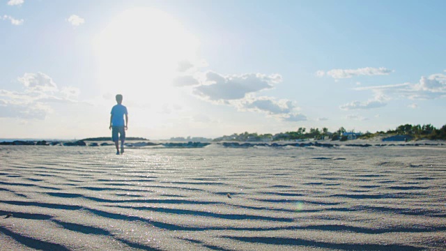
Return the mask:
<svg viewBox="0 0 446 251"><path fill-rule="evenodd" d="M445 153L0 146L0 250L444 250Z"/></svg>

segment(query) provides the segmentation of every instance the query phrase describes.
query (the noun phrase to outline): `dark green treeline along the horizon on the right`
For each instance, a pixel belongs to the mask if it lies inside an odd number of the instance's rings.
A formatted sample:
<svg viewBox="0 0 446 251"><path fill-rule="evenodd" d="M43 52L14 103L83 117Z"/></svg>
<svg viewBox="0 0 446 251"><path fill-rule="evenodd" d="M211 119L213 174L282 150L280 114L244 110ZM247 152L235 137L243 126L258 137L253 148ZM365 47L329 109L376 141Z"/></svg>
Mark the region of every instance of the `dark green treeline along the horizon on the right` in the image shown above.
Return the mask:
<svg viewBox="0 0 446 251"><path fill-rule="evenodd" d="M353 135L353 137L351 137ZM331 140L346 140L348 136L353 139L369 139L377 136L393 136L393 135L408 135L412 139L446 139L446 125L440 129L433 127L431 124L427 125L401 125L395 130L387 130L387 132L354 132L354 130L346 130L344 127L339 128L336 132L329 132L328 128L298 128L296 131L279 132L272 134L257 134L243 132L240 134L217 137L213 139L214 142L220 141L236 141L236 142L268 142L281 140L305 140L305 139L331 139Z"/></svg>

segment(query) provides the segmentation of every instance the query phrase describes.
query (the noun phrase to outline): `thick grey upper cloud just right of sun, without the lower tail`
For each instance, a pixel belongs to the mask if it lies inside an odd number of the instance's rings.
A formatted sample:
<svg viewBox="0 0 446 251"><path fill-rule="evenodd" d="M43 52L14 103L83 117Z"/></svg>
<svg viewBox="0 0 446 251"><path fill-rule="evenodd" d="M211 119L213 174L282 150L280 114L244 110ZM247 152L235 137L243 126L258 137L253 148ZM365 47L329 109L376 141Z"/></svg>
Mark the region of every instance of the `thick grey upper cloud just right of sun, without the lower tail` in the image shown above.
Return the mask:
<svg viewBox="0 0 446 251"><path fill-rule="evenodd" d="M279 82L282 82L282 76L278 74L248 73L225 76L208 72L204 76L203 84L194 88L194 94L214 101L238 100L245 98L248 93L272 89Z"/></svg>

